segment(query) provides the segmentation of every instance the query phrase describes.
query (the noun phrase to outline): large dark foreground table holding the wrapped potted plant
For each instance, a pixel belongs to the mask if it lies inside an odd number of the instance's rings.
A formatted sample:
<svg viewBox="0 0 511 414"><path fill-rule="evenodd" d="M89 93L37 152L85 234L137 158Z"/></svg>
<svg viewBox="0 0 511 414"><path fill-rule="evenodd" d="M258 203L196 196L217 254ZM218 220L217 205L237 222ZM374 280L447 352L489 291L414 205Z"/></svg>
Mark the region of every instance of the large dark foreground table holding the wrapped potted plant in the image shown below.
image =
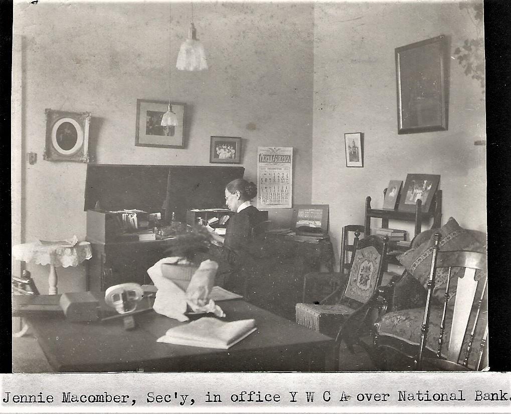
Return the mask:
<svg viewBox="0 0 511 414"><path fill-rule="evenodd" d="M37 298L44 301L42 296ZM53 298L56 301L58 296ZM230 349L219 350L157 343L157 338L180 322L152 310L135 315L138 326L133 330L125 330L121 319L72 323L59 312L28 313L25 317L55 372L337 369L337 361L332 360L334 341L326 335L243 300L222 301L219 305L227 321L254 318L258 330Z"/></svg>

